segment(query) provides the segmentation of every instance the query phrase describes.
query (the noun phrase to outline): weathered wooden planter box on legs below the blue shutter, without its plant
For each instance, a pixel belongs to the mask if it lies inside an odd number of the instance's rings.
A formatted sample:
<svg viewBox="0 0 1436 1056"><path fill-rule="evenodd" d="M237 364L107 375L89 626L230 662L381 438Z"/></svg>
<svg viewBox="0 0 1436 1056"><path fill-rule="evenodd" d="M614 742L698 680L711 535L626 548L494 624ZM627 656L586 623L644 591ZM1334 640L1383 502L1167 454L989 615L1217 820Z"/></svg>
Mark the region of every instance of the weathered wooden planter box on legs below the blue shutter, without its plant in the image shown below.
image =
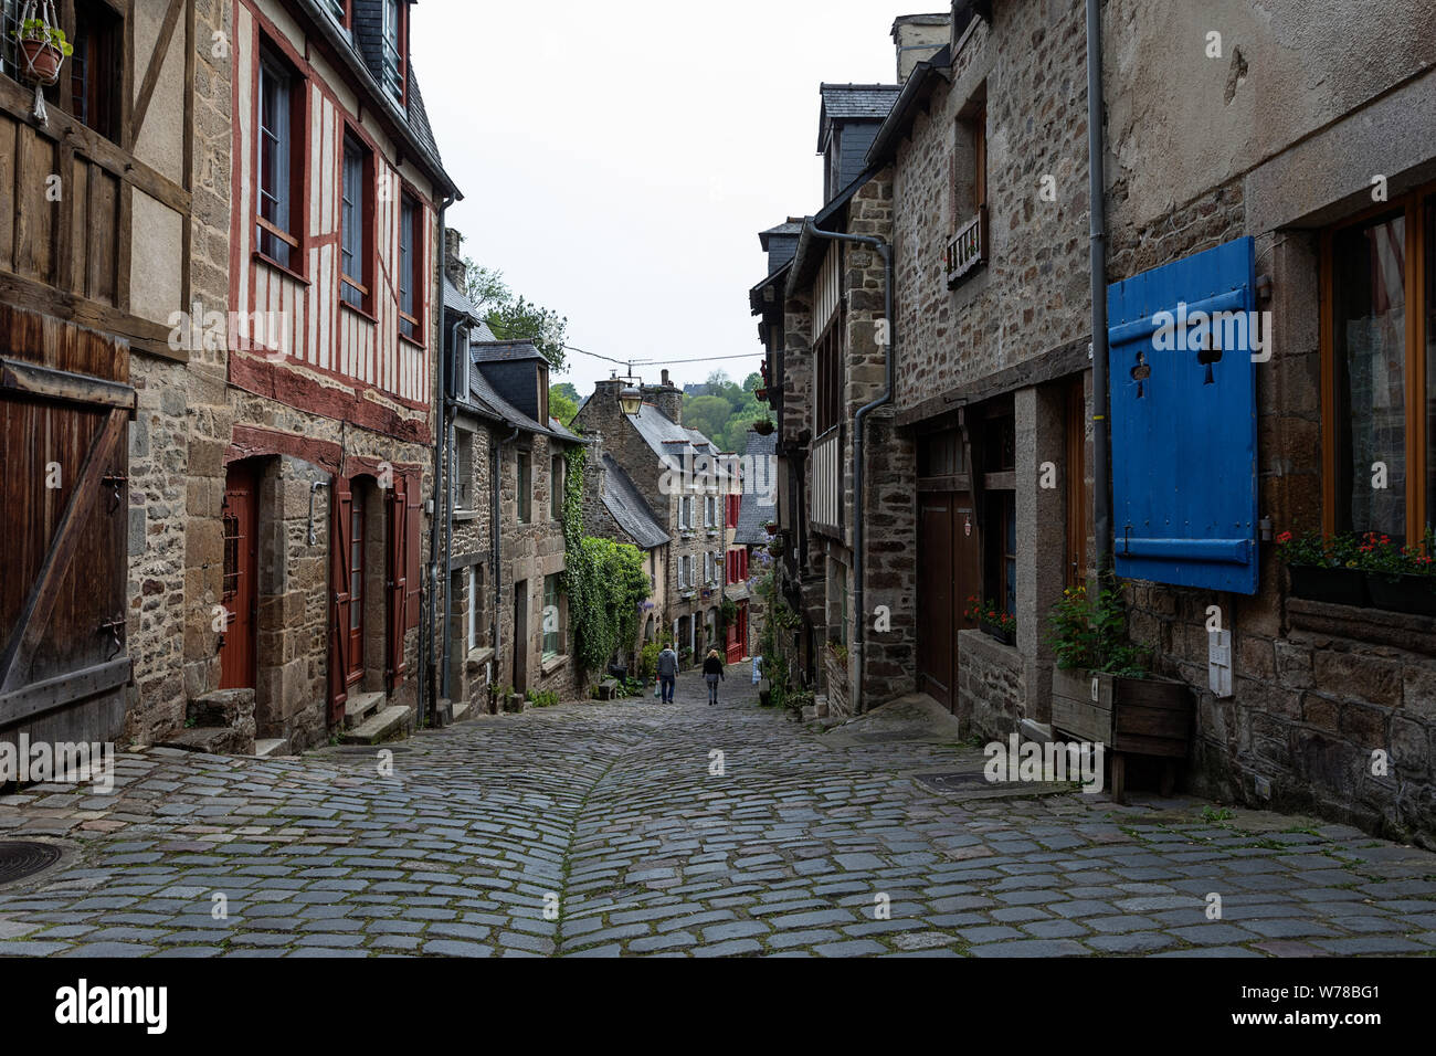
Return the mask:
<svg viewBox="0 0 1436 1056"><path fill-rule="evenodd" d="M1111 796L1126 802L1124 756L1186 759L1192 741L1192 691L1173 678L1119 678L1094 671L1053 668L1053 728L1100 743L1111 757ZM1176 780L1163 767L1162 795Z"/></svg>

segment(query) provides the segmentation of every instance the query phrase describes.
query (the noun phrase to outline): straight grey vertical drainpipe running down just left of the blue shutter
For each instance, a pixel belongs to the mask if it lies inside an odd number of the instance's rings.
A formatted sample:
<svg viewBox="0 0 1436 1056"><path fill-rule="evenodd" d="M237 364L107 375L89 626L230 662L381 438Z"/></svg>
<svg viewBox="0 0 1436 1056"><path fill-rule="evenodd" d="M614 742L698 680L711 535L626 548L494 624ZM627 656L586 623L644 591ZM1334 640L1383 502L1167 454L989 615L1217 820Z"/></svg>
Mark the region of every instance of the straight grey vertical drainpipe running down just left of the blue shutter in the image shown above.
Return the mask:
<svg viewBox="0 0 1436 1056"><path fill-rule="evenodd" d="M1111 568L1107 463L1107 203L1103 157L1101 0L1087 0L1087 197L1091 204L1091 477L1097 575Z"/></svg>

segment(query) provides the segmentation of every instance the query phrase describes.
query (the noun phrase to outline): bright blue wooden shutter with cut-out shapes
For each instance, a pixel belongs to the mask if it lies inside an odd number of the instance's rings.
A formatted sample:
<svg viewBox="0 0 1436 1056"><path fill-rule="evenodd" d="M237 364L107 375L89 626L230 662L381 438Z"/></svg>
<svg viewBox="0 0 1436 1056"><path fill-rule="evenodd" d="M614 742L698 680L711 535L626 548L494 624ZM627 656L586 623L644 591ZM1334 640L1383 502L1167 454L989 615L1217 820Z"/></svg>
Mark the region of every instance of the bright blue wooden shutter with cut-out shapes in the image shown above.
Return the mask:
<svg viewBox="0 0 1436 1056"><path fill-rule="evenodd" d="M1238 238L1107 289L1120 576L1256 593L1255 286Z"/></svg>

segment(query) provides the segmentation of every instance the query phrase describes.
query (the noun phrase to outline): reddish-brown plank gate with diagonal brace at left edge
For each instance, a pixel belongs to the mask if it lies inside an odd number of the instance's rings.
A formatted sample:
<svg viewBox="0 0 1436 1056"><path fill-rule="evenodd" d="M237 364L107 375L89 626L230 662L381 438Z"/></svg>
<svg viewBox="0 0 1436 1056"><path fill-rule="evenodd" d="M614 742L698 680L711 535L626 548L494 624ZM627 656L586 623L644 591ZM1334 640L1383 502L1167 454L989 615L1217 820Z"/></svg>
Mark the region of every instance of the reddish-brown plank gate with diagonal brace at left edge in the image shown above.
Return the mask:
<svg viewBox="0 0 1436 1056"><path fill-rule="evenodd" d="M0 738L125 720L129 345L0 305Z"/></svg>

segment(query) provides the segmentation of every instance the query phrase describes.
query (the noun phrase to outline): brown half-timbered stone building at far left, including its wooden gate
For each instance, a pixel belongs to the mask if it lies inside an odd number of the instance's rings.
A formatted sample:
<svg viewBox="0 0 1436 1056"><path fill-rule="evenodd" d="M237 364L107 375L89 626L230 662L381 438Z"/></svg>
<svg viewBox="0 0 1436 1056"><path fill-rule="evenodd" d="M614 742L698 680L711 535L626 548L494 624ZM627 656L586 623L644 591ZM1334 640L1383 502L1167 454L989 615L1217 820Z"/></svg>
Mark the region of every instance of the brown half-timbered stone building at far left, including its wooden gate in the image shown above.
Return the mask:
<svg viewBox="0 0 1436 1056"><path fill-rule="evenodd" d="M224 358L184 313L228 289L231 6L56 9L43 119L0 11L0 740L148 741L185 720L182 611L218 555L185 507L220 471L190 407Z"/></svg>

